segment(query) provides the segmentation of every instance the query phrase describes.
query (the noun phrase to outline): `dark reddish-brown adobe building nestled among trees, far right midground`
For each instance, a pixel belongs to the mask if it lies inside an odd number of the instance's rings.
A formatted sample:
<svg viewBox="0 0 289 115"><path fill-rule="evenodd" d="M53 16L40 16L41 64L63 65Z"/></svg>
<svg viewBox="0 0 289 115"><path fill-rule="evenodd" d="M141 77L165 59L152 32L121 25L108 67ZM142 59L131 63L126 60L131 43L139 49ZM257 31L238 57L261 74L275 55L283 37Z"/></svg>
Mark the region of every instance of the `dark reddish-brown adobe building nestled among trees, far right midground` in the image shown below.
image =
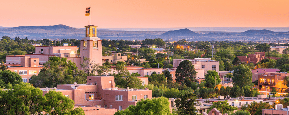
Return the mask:
<svg viewBox="0 0 289 115"><path fill-rule="evenodd" d="M265 52L255 52L255 54L248 54L249 57L247 56L237 56L241 62L245 62L246 64L253 63L257 64L258 62L261 62L263 59L274 59L274 60L279 60L282 57L265 57Z"/></svg>

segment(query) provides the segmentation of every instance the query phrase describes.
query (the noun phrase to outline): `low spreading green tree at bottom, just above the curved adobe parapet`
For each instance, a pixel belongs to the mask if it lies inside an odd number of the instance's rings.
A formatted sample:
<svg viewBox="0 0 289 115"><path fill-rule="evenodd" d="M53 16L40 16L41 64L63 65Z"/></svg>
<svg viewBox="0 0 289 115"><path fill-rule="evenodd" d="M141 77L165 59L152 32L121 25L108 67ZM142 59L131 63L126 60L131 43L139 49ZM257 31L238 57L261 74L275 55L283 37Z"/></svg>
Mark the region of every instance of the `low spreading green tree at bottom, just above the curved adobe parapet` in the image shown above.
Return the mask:
<svg viewBox="0 0 289 115"><path fill-rule="evenodd" d="M207 113L209 113L213 108L216 108L217 110L222 112L222 114L228 113L229 111L233 112L234 110L238 110L238 108L235 106L229 106L229 104L227 103L227 100L212 102L212 104L213 105L210 107L210 109L207 110Z"/></svg>

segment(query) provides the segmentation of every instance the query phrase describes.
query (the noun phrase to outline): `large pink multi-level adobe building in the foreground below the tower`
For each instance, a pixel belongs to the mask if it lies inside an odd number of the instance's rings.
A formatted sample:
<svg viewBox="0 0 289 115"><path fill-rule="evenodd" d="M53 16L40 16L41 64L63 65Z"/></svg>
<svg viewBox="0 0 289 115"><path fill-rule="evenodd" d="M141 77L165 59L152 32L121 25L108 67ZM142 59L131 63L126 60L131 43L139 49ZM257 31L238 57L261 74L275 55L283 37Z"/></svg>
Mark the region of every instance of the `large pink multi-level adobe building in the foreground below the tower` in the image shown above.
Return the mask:
<svg viewBox="0 0 289 115"><path fill-rule="evenodd" d="M121 89L115 87L113 76L87 76L86 84L57 85L57 88L42 89L43 95L49 90L56 90L71 98L75 106L94 106L96 112L111 115L117 110L123 110L129 105L136 105L141 99L151 99L152 90L146 89ZM93 109L84 109L85 113ZM115 109L110 109L115 108ZM110 109L110 110L109 110ZM98 111L97 111L98 110ZM89 115L89 114L86 114Z"/></svg>

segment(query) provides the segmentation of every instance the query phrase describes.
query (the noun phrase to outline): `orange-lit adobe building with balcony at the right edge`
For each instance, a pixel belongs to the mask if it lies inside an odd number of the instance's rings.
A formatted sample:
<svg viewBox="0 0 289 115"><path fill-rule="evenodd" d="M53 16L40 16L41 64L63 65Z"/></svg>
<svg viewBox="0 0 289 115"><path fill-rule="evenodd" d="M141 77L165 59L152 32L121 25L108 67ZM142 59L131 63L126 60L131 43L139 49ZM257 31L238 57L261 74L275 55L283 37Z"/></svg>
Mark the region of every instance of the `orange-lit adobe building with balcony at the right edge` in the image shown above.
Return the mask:
<svg viewBox="0 0 289 115"><path fill-rule="evenodd" d="M283 80L289 73L279 72L279 73L262 73L258 75L258 88L259 91L270 91L273 87L280 93L285 93L287 86L283 85Z"/></svg>

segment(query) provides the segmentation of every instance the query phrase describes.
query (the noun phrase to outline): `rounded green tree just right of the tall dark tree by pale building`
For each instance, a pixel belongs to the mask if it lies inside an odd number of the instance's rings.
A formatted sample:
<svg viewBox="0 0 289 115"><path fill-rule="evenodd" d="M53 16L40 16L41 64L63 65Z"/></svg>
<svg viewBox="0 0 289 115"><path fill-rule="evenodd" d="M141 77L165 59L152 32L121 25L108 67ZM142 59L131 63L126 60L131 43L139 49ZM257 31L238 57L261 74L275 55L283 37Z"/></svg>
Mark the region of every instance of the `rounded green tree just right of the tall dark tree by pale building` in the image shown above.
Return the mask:
<svg viewBox="0 0 289 115"><path fill-rule="evenodd" d="M221 79L219 78L218 72L208 70L205 74L205 86L208 88L214 88L216 85L220 84Z"/></svg>

